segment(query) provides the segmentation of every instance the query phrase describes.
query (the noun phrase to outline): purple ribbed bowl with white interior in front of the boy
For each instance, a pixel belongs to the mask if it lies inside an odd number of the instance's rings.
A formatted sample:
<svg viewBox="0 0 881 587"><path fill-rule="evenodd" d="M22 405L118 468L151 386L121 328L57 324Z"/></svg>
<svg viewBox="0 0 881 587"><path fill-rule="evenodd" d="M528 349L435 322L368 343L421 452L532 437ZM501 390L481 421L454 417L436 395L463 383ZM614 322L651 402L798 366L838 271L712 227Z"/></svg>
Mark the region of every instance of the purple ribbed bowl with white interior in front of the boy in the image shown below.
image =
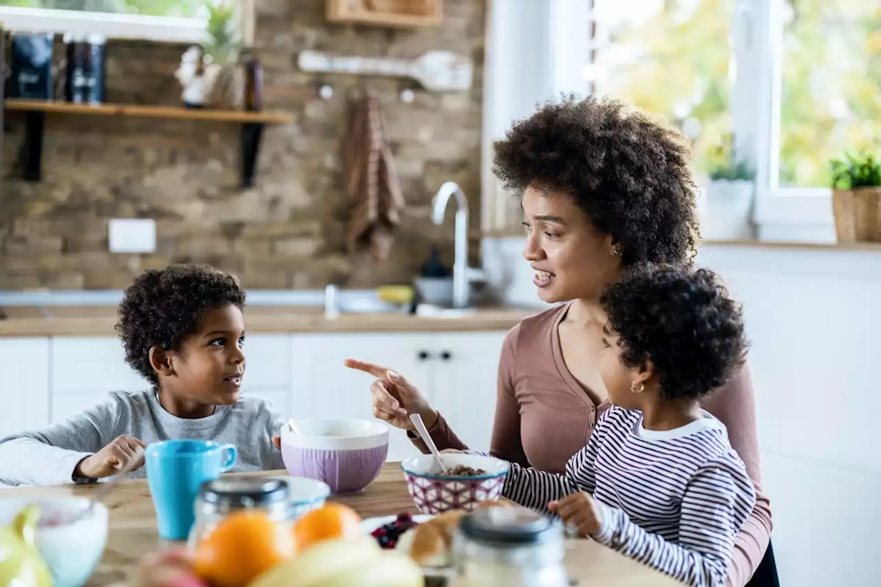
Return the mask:
<svg viewBox="0 0 881 587"><path fill-rule="evenodd" d="M333 494L361 491L389 454L389 427L371 420L299 420L281 428L281 455L295 477L326 483Z"/></svg>

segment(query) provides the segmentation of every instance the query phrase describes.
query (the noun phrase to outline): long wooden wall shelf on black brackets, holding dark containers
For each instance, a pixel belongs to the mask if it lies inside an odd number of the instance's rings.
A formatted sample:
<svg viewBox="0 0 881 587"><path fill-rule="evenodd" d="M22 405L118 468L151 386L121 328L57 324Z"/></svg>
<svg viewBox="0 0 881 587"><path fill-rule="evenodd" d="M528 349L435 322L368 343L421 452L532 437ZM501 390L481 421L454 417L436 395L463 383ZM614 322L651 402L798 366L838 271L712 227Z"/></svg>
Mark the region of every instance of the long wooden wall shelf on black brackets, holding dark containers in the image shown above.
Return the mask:
<svg viewBox="0 0 881 587"><path fill-rule="evenodd" d="M43 127L46 115L125 116L129 118L161 118L166 120L196 120L241 124L241 184L254 184L257 153L263 127L267 124L293 122L292 115L279 112L246 112L241 110L209 110L177 108L174 106L137 106L134 104L71 104L52 100L6 100L4 109L26 113L25 141L20 159L24 177L39 182L42 176Z"/></svg>

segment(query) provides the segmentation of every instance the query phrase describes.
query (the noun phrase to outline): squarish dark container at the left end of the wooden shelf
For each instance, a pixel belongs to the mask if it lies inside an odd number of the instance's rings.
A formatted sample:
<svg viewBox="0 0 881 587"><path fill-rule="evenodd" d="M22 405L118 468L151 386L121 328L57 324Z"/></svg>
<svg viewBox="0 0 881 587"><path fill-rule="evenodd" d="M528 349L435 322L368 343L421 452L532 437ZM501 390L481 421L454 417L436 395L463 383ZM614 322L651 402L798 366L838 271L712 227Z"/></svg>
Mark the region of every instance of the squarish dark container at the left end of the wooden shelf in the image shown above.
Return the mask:
<svg viewBox="0 0 881 587"><path fill-rule="evenodd" d="M10 44L10 98L52 100L52 33L13 33Z"/></svg>

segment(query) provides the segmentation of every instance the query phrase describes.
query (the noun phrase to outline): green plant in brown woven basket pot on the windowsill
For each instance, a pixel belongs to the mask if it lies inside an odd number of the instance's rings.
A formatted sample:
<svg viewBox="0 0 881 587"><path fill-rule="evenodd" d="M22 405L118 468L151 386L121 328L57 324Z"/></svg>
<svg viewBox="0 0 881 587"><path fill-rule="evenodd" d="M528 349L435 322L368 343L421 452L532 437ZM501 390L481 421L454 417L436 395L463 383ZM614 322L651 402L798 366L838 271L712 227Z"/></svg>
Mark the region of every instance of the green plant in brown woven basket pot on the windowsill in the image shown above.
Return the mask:
<svg viewBox="0 0 881 587"><path fill-rule="evenodd" d="M832 161L832 209L839 242L881 241L881 160L845 154Z"/></svg>

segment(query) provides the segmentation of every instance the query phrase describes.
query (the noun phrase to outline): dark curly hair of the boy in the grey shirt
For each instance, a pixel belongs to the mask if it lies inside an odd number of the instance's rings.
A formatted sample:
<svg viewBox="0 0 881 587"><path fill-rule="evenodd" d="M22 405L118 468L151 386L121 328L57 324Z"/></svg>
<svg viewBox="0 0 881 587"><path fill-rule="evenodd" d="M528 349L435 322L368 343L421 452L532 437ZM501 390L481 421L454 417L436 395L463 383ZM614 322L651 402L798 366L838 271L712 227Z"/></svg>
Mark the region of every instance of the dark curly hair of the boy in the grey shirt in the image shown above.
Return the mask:
<svg viewBox="0 0 881 587"><path fill-rule="evenodd" d="M126 288L119 305L116 331L126 362L157 385L150 349L180 348L183 339L198 330L207 310L227 304L243 308L245 293L233 276L208 265L177 264L145 271Z"/></svg>

